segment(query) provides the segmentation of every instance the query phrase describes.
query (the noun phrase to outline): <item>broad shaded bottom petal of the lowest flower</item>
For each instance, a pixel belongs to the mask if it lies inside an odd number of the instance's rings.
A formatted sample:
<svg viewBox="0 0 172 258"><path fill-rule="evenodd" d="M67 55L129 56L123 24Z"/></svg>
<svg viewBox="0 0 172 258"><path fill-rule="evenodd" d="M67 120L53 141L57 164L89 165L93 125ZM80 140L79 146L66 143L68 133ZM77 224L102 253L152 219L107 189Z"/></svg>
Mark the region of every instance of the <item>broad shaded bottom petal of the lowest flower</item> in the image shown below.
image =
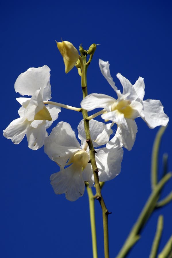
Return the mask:
<svg viewBox="0 0 172 258"><path fill-rule="evenodd" d="M85 184L82 179L82 170L77 170L74 164L51 175L50 180L55 193L65 193L69 201L76 201L84 194Z"/></svg>

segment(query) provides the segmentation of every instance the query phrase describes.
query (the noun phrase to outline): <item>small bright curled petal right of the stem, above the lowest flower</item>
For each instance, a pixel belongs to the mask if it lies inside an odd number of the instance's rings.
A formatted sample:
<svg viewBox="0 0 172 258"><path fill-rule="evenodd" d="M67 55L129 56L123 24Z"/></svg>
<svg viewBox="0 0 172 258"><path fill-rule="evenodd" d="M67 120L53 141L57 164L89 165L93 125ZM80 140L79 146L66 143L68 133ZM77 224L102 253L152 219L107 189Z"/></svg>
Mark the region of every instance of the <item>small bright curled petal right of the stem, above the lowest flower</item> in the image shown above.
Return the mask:
<svg viewBox="0 0 172 258"><path fill-rule="evenodd" d="M114 122L106 124L105 129L97 136L96 142L97 145L104 145L109 142L110 135L113 133L111 127L114 125Z"/></svg>

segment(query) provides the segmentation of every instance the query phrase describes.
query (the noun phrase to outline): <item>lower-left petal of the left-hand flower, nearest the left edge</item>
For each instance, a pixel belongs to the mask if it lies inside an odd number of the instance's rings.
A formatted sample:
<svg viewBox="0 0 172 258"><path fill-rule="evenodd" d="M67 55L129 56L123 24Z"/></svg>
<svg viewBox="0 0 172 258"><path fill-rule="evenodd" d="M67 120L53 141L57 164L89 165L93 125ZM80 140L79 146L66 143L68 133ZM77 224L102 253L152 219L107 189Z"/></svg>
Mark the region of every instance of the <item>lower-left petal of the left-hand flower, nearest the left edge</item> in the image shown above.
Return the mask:
<svg viewBox="0 0 172 258"><path fill-rule="evenodd" d="M30 122L26 118L17 118L3 131L3 136L11 139L14 144L19 144L23 140L29 126Z"/></svg>

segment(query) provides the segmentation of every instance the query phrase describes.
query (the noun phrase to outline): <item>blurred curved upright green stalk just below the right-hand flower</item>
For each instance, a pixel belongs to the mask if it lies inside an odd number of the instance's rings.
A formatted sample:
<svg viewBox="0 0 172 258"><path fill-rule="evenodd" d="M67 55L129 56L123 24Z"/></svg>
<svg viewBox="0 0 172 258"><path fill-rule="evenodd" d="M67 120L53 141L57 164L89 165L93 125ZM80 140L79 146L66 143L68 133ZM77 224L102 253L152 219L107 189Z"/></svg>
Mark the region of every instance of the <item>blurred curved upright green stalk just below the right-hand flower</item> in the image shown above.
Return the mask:
<svg viewBox="0 0 172 258"><path fill-rule="evenodd" d="M152 189L154 189L154 187L156 186L156 184L158 182L157 175L158 175L159 146L161 143L161 138L162 138L166 128L167 128L167 126L160 127L160 129L158 130L158 132L156 134L153 148L152 148L152 163L151 163L151 187L152 187Z"/></svg>

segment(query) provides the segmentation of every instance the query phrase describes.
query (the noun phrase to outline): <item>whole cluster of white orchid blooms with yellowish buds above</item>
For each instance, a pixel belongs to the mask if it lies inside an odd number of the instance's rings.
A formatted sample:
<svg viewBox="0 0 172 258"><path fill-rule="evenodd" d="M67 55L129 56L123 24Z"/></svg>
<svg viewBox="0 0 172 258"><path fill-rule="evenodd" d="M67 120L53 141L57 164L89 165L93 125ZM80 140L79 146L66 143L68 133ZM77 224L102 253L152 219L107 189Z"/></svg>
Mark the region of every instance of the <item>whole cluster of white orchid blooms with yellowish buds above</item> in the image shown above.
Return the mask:
<svg viewBox="0 0 172 258"><path fill-rule="evenodd" d="M78 70L80 71L78 73L81 76L84 65L89 64L96 50L96 44L92 44L87 51L80 46L81 56L79 56L78 50L71 42L57 42L57 47L63 56L65 73L68 73L75 65L78 68L76 62L79 58ZM83 64L81 57L86 56L86 53L90 54L90 59L88 63ZM118 73L117 78L123 86L123 93L121 93L110 75L109 62L100 59L99 67L103 76L117 93L117 99L105 94L92 93L81 101L81 107L87 111L98 107L103 108L101 112L84 119L90 120L89 140L93 140L92 148L95 150L99 180L108 181L121 171L122 147L132 149L137 133L134 119L141 117L150 128L159 125L166 126L169 119L163 112L163 106L159 100L143 100L145 86L142 77L139 77L132 85ZM90 146L86 139L84 120L78 125L78 138L81 140L81 145L71 126L66 122L59 122L49 136L46 129L58 118L61 107L76 111L81 111L81 109L49 101L51 99L50 69L46 65L29 68L21 73L15 82L15 91L23 96L31 96L31 98L16 99L22 105L18 111L20 118L13 120L4 130L3 135L11 139L14 144L18 144L26 134L28 147L32 150L37 150L44 145L45 153L60 166L60 171L51 175L50 178L55 193L65 193L70 201L77 200L84 193L84 182L88 182L89 187L94 184ZM105 124L92 119L99 114L106 122L109 120L112 122ZM117 131L109 140L113 133L111 127L114 123L117 124Z"/></svg>

